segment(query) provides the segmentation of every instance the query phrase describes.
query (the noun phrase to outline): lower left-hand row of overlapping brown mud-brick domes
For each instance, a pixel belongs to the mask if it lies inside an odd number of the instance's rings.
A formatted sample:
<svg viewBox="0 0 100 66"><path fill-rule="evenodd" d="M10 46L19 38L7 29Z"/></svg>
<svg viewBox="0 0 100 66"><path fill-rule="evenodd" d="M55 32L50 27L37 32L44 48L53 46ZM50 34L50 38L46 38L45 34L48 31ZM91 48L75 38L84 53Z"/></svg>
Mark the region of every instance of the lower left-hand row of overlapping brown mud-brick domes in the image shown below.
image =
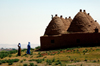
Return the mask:
<svg viewBox="0 0 100 66"><path fill-rule="evenodd" d="M70 20L72 19L70 18ZM44 35L63 34L68 30L70 24L71 22L69 21L69 19L67 18L64 19L62 15L58 17L56 14L55 17L52 18L49 25L47 26Z"/></svg>

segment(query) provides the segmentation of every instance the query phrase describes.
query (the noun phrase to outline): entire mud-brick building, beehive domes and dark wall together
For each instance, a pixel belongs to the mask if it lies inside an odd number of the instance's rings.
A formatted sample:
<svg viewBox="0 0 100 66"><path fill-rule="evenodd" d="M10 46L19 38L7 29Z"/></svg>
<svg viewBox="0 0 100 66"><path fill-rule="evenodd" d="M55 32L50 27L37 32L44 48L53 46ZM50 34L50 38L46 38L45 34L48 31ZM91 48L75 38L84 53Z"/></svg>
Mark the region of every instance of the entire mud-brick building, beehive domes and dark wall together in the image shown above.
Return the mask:
<svg viewBox="0 0 100 66"><path fill-rule="evenodd" d="M55 15L40 37L41 50L69 48L76 46L100 46L100 25L86 10L72 19Z"/></svg>

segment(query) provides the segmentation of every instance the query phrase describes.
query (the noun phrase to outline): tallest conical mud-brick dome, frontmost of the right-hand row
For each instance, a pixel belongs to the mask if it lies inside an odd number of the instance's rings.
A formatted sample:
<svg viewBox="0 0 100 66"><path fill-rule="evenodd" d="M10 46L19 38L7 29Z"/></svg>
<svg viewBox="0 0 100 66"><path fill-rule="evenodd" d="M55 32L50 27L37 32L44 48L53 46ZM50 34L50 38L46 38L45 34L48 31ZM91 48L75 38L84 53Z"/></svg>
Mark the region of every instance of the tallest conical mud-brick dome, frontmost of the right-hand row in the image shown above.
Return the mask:
<svg viewBox="0 0 100 66"><path fill-rule="evenodd" d="M89 32L91 30L90 25L86 15L80 11L71 22L68 32Z"/></svg>

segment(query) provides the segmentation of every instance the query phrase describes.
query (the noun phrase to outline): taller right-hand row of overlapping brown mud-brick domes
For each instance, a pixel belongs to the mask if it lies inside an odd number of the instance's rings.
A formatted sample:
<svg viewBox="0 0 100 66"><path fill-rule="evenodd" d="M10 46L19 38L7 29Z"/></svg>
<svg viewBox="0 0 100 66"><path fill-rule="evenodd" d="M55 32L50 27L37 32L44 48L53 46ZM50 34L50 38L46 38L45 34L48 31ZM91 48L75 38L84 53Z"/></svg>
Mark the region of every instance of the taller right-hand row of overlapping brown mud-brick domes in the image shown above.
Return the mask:
<svg viewBox="0 0 100 66"><path fill-rule="evenodd" d="M89 13L87 14L85 10L83 12L80 10L71 22L68 32L94 32L96 27L100 31L99 24L94 21Z"/></svg>

